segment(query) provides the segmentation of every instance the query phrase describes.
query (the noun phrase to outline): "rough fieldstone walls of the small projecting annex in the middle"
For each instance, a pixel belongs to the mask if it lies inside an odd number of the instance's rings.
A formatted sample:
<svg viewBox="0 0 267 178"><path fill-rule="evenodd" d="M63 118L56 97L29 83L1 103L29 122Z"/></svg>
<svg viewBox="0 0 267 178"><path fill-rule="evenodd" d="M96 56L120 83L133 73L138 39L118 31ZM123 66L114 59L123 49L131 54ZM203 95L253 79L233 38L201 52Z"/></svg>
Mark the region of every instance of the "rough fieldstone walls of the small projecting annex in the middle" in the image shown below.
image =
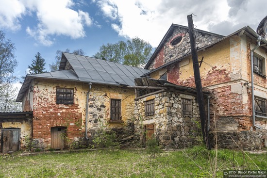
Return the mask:
<svg viewBox="0 0 267 178"><path fill-rule="evenodd" d="M155 114L145 116L145 101L154 98ZM192 99L192 115L181 114L181 98ZM136 101L134 136L142 144L144 125L154 124L154 134L164 148L184 148L202 142L196 98L175 92L163 92Z"/></svg>

